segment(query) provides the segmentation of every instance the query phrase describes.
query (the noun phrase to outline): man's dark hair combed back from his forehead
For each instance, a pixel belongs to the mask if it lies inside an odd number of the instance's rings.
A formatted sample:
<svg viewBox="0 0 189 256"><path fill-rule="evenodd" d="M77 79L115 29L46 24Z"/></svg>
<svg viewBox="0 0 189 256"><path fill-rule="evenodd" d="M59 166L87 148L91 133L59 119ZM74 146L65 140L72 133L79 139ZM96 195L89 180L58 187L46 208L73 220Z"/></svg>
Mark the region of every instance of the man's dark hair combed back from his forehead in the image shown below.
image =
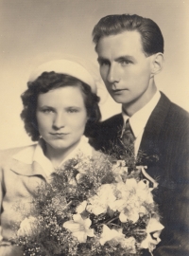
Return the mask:
<svg viewBox="0 0 189 256"><path fill-rule="evenodd" d="M100 19L93 30L95 50L100 38L124 31L138 31L141 34L143 51L146 56L158 52L163 53L163 34L160 27L151 19L136 14L108 15Z"/></svg>

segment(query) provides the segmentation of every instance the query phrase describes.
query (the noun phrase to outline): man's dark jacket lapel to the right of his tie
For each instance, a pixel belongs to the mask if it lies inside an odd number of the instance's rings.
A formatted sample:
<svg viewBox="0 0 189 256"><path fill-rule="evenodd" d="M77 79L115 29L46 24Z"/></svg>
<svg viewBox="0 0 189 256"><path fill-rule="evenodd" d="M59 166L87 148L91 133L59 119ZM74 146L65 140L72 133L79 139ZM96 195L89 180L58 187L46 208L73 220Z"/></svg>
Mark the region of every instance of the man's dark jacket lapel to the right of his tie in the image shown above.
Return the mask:
<svg viewBox="0 0 189 256"><path fill-rule="evenodd" d="M161 99L146 123L146 128L140 145L140 150L146 153L146 155L161 154L161 152L159 152L158 142L170 104L171 101L161 93Z"/></svg>

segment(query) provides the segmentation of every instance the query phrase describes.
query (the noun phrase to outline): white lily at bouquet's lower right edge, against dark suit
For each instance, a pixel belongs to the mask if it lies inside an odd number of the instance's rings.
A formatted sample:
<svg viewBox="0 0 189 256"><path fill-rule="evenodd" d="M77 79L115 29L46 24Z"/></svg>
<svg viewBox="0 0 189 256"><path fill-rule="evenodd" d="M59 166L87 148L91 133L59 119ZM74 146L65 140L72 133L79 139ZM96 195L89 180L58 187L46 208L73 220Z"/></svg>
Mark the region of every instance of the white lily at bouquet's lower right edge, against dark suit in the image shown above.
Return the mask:
<svg viewBox="0 0 189 256"><path fill-rule="evenodd" d="M155 218L149 219L149 222L146 227L146 239L141 243L142 248L148 248L151 253L153 249L158 245L161 241L160 234L162 229L164 229L163 225ZM152 236L153 233L153 236Z"/></svg>

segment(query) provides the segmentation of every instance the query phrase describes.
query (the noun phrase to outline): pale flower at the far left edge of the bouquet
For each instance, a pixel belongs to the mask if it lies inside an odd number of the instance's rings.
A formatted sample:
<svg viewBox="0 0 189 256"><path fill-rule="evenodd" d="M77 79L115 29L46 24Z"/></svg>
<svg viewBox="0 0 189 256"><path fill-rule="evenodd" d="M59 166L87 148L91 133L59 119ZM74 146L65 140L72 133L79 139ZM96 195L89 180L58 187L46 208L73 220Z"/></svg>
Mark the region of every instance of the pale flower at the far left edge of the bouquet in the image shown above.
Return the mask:
<svg viewBox="0 0 189 256"><path fill-rule="evenodd" d="M33 216L25 218L21 224L20 229L17 231L18 236L29 236L33 233L34 230L38 228L38 220Z"/></svg>

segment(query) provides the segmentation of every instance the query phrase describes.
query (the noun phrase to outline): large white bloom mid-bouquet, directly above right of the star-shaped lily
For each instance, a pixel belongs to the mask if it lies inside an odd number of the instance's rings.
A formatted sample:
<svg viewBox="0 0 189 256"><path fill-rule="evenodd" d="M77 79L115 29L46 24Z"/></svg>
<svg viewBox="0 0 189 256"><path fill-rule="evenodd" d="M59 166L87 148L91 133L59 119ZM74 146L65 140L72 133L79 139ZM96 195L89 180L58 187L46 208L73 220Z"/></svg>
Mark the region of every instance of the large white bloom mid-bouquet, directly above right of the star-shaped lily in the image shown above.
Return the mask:
<svg viewBox="0 0 189 256"><path fill-rule="evenodd" d="M88 205L86 209L93 212L95 215L99 215L107 212L108 207L111 208L112 202L115 200L114 185L105 184L99 188L96 195L89 199L90 205Z"/></svg>

